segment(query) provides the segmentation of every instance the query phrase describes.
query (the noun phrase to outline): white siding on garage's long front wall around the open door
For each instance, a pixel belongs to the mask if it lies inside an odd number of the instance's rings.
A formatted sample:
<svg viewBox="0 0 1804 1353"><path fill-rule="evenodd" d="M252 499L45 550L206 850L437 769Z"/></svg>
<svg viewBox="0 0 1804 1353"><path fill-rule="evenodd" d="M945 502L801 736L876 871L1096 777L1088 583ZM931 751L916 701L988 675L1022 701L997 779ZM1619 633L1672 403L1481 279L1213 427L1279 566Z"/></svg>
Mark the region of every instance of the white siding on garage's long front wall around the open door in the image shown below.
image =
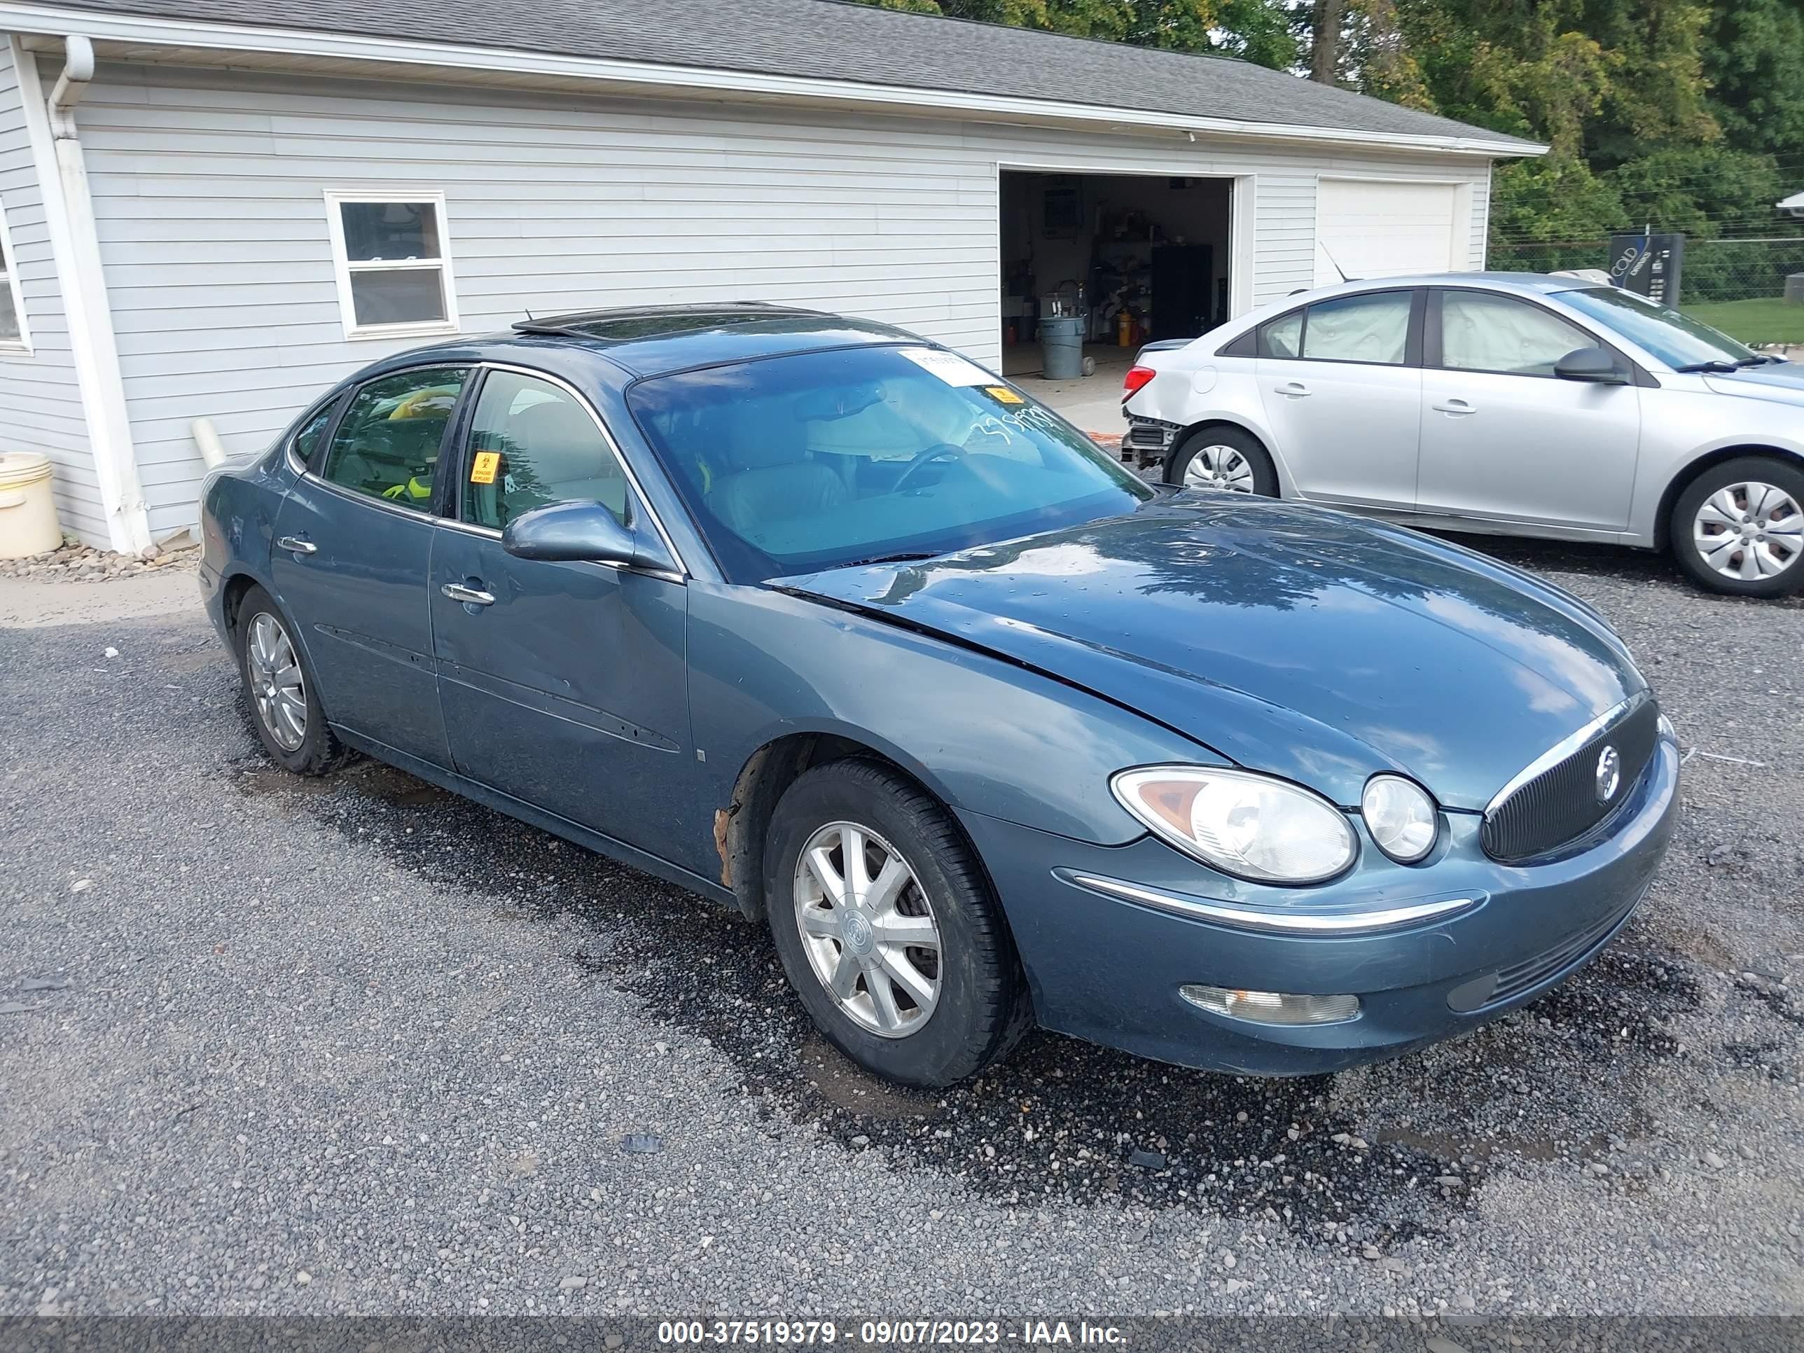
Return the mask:
<svg viewBox="0 0 1804 1353"><path fill-rule="evenodd" d="M770 299L999 352L998 166L1257 175L1256 301L1313 280L1322 173L1485 180L1468 157L718 103L103 67L79 110L153 534L200 458L267 442L357 366L327 189L442 191L465 332L604 305Z"/></svg>

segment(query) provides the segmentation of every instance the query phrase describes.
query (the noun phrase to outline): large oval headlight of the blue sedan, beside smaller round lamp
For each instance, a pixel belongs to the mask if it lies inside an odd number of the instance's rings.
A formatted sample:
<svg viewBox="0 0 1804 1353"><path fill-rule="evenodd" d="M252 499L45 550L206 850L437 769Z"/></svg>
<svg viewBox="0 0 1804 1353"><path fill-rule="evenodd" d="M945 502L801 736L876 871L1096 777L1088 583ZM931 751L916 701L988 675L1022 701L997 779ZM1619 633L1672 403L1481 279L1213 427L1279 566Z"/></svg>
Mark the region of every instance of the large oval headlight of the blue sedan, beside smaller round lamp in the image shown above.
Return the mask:
<svg viewBox="0 0 1804 1353"><path fill-rule="evenodd" d="M1313 884L1346 870L1358 851L1339 808L1283 779L1158 765L1122 770L1109 783L1162 839L1239 879Z"/></svg>

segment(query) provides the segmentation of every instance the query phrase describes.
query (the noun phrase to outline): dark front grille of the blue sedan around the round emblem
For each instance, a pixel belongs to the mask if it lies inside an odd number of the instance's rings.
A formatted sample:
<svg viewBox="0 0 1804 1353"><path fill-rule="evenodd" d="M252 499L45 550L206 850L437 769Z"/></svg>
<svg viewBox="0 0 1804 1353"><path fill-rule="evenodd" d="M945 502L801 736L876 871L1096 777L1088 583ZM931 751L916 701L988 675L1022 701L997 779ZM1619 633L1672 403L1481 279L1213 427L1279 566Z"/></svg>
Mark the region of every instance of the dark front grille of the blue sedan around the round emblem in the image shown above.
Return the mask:
<svg viewBox="0 0 1804 1353"><path fill-rule="evenodd" d="M1600 828L1634 797L1660 741L1660 707L1638 696L1613 722L1553 765L1535 772L1485 812L1479 842L1505 864L1523 864L1569 846ZM1598 799L1597 767L1606 747L1615 747L1620 783L1609 799Z"/></svg>

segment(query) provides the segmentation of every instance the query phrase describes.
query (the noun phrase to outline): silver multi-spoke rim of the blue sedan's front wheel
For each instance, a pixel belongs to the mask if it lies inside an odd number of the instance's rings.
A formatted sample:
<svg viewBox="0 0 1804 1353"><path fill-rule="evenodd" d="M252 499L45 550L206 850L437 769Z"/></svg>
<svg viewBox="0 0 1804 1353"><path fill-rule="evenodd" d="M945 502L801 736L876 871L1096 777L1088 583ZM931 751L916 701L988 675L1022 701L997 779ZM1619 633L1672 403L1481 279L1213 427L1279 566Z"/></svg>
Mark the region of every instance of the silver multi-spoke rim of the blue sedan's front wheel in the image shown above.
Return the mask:
<svg viewBox="0 0 1804 1353"><path fill-rule="evenodd" d="M940 1003L940 927L907 861L868 826L828 823L796 862L814 976L861 1028L907 1037Z"/></svg>

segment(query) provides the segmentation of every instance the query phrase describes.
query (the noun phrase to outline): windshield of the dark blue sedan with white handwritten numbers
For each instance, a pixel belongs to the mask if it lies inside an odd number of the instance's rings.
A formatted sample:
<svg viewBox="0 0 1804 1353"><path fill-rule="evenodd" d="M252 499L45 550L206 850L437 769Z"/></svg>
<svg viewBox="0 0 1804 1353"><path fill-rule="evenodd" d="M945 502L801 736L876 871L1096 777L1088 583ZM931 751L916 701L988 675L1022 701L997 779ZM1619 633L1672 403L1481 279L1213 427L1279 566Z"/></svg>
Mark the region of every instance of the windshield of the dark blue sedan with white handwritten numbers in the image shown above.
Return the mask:
<svg viewBox="0 0 1804 1353"><path fill-rule="evenodd" d="M1153 491L951 352L864 346L640 381L633 417L736 583L927 557Z"/></svg>

